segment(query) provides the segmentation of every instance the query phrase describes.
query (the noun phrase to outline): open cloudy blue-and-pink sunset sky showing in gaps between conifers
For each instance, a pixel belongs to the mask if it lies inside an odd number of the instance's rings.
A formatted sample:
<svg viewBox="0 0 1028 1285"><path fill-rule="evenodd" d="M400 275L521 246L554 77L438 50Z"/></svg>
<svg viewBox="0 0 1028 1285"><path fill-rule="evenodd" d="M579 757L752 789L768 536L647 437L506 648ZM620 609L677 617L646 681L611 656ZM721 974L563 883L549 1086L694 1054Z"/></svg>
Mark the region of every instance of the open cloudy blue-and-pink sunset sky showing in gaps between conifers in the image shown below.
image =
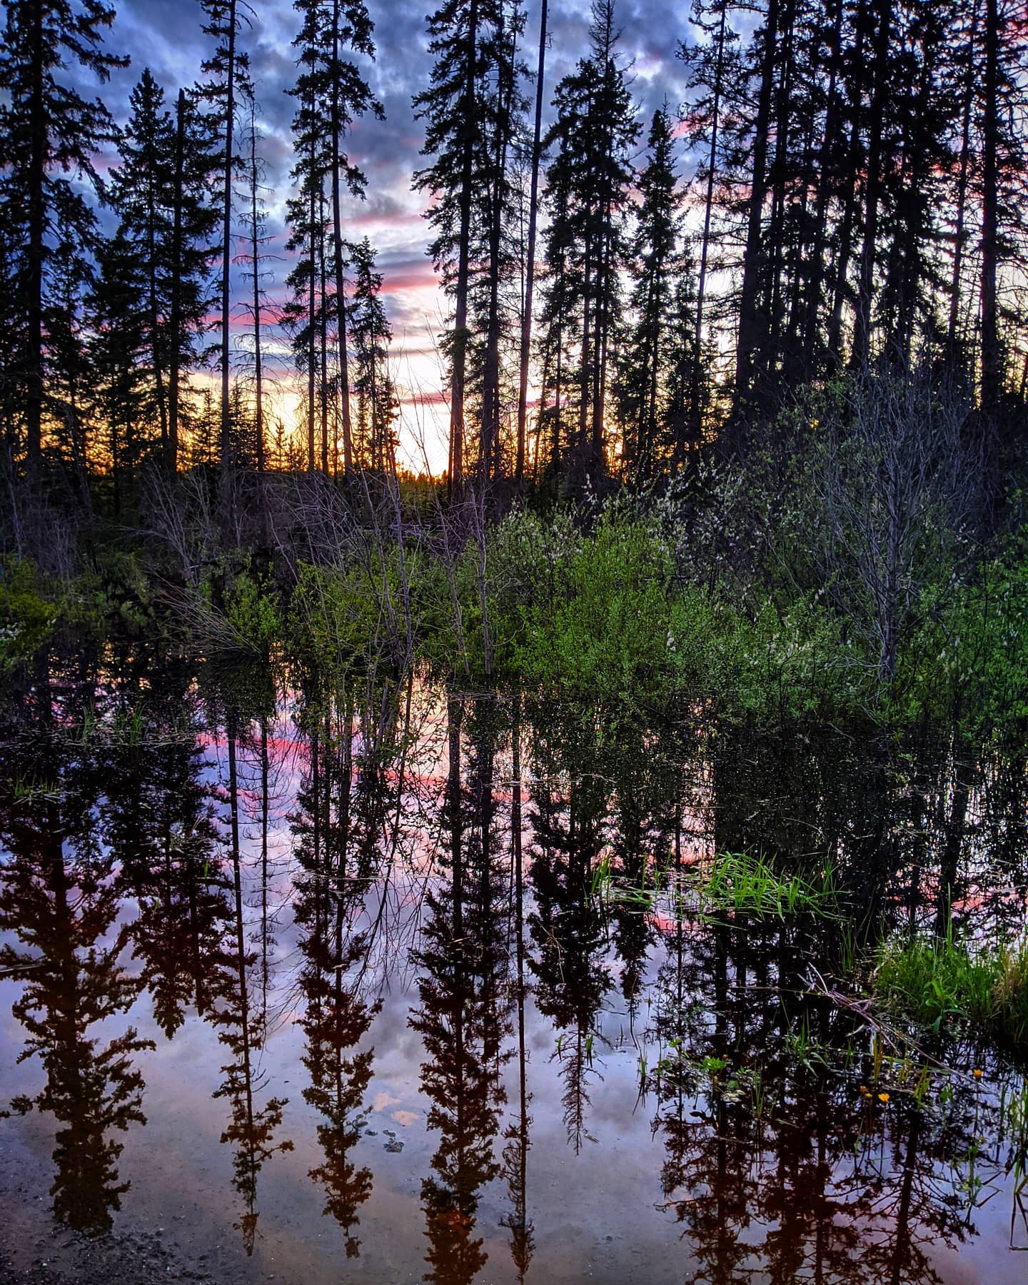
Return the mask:
<svg viewBox="0 0 1028 1285"><path fill-rule="evenodd" d="M203 14L197 0L113 0L117 17L105 39L107 48L127 54L130 67L114 71L100 90L116 120L123 120L128 95L144 67L164 87L168 104L181 85L200 76L200 63L211 42L202 33ZM386 111L386 121L355 122L348 139L350 159L368 177L365 200L350 199L344 221L350 238L368 235L379 252L384 297L393 325L394 373L402 393L401 454L409 465L438 470L445 465L443 445L446 380L437 356L436 337L446 310L427 254L429 226L423 215L427 193L411 191L411 176L424 163L420 122L414 120L411 96L428 84L425 14L433 0L368 0L375 24L377 57L365 64L373 90ZM284 298L289 270L285 252L285 199L292 167L290 121L296 103L285 91L296 80L292 41L299 17L289 0L252 0L253 13L244 46L257 91L261 153L270 189L269 253L272 257L274 302ZM690 33L689 5L669 0L617 0L625 62L631 64L632 93L642 122L667 100L677 111L684 94L684 68L676 58L678 41ZM571 71L587 48L589 0L551 0L550 44L546 55L545 102L558 80ZM535 68L538 48L538 4L528 3L524 60ZM96 93L85 73L72 73L84 93ZM529 94L535 90L529 87ZM640 145L645 128L640 134ZM113 159L113 158L112 158ZM686 158L681 168L687 170ZM239 281L239 294L245 284ZM240 321L240 328L243 323ZM284 393L281 410L290 418L294 398Z"/></svg>

